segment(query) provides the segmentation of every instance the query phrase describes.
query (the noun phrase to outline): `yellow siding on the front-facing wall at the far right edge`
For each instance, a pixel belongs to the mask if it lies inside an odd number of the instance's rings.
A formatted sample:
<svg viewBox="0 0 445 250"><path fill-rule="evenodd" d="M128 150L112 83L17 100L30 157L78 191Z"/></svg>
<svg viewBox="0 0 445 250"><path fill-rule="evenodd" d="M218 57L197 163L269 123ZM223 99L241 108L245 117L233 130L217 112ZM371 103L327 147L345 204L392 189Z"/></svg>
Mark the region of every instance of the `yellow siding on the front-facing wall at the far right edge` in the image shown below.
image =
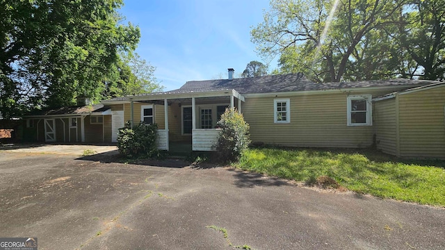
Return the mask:
<svg viewBox="0 0 445 250"><path fill-rule="evenodd" d="M445 86L399 95L401 156L445 158Z"/></svg>

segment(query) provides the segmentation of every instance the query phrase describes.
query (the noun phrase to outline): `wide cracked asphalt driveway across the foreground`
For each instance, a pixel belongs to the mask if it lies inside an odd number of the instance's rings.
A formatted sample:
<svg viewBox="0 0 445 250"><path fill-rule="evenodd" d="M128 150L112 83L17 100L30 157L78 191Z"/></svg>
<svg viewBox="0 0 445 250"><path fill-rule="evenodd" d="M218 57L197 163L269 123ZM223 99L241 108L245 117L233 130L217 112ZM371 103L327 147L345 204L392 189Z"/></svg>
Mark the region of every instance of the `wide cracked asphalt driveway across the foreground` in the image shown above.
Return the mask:
<svg viewBox="0 0 445 250"><path fill-rule="evenodd" d="M443 208L179 160L0 151L0 212L39 249L445 249Z"/></svg>

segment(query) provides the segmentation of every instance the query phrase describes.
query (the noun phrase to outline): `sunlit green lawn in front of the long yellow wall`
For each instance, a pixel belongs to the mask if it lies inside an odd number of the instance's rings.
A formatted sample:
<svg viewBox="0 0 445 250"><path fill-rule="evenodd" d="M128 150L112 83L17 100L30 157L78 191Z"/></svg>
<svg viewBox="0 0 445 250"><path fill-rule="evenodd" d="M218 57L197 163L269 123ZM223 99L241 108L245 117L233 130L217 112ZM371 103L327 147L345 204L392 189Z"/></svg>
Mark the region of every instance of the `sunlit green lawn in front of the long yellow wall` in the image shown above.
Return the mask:
<svg viewBox="0 0 445 250"><path fill-rule="evenodd" d="M248 149L234 166L296 181L326 175L358 193L445 206L444 160L401 160L371 150L261 148Z"/></svg>

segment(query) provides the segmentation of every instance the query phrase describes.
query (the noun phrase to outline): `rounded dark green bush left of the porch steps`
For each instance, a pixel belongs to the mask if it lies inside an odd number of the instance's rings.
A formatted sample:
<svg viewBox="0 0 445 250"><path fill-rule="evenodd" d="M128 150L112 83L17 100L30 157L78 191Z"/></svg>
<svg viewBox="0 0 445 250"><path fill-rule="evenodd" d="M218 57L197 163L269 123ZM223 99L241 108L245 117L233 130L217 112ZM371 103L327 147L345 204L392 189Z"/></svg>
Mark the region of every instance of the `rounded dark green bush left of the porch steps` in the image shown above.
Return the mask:
<svg viewBox="0 0 445 250"><path fill-rule="evenodd" d="M159 151L156 149L157 128L156 124L140 122L131 129L131 123L127 122L124 128L119 129L119 153L127 158L158 156Z"/></svg>

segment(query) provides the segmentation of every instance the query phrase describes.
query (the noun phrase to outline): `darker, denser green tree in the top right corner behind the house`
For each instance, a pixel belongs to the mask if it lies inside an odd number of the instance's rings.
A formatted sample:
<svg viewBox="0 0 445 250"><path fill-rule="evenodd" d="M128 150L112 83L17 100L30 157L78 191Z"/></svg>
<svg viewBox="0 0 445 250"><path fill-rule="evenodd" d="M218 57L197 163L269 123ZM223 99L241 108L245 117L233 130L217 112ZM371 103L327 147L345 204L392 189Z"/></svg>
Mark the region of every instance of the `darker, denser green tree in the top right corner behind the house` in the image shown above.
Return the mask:
<svg viewBox="0 0 445 250"><path fill-rule="evenodd" d="M401 67L403 76L444 79L445 1L413 0L410 11L399 13L398 32L393 36L401 50L414 62Z"/></svg>

